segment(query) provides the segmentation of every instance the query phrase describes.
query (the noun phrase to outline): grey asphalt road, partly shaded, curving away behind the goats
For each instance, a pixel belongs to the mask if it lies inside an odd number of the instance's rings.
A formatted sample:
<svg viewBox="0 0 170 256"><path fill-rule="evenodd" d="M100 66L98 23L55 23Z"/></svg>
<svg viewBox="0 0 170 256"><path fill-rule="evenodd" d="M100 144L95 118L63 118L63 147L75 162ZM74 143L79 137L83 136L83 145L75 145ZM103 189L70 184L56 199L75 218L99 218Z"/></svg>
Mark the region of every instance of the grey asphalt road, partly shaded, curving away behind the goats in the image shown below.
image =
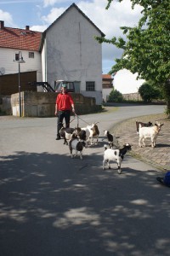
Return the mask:
<svg viewBox="0 0 170 256"><path fill-rule="evenodd" d="M156 182L160 172L129 155L121 175L115 163L102 170L104 130L163 112L123 105L80 116L80 126L99 121L100 131L83 160L55 141L56 118L0 117L0 255L170 255L170 189Z"/></svg>

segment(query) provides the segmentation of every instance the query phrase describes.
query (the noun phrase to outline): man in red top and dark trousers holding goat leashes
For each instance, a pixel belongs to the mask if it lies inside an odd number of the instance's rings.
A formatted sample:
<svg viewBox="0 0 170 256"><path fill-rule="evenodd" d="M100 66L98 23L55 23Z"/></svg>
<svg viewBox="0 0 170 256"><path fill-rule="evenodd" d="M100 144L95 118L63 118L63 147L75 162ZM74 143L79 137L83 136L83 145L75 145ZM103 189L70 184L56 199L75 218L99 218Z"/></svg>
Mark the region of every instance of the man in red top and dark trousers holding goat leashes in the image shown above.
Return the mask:
<svg viewBox="0 0 170 256"><path fill-rule="evenodd" d="M56 98L55 115L58 116L56 140L60 139L59 130L62 127L63 119L65 118L65 127L69 127L71 111L76 114L73 99L71 95L66 91L66 88L66 84L62 84L61 92Z"/></svg>

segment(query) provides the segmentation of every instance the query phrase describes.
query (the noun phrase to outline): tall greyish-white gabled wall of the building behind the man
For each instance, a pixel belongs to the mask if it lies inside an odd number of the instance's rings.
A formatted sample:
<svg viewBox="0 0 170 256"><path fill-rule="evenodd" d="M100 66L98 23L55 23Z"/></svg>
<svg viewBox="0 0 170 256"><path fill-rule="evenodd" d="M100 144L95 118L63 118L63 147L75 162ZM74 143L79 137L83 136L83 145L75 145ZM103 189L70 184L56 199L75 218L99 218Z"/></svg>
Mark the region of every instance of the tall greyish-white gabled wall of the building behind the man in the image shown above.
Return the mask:
<svg viewBox="0 0 170 256"><path fill-rule="evenodd" d="M80 81L82 95L101 104L102 48L94 36L100 32L76 8L54 22L46 34L47 81L52 86L57 79ZM95 91L86 91L87 81L95 82Z"/></svg>

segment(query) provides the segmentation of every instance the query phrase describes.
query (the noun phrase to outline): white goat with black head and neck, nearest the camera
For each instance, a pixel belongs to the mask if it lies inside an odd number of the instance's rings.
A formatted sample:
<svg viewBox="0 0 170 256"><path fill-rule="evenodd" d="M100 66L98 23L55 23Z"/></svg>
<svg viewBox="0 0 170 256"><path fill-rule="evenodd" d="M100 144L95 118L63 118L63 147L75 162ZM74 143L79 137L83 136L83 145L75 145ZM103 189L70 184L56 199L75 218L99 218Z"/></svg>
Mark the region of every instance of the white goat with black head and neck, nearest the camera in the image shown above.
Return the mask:
<svg viewBox="0 0 170 256"><path fill-rule="evenodd" d="M123 148L120 149L113 149L107 148L105 145L105 152L104 152L104 160L103 160L103 170L105 170L105 163L107 163L109 169L111 169L110 161L116 161L118 166L118 173L121 174L121 164L124 158L124 155L127 153L127 150L131 150L131 145L129 143L125 144Z"/></svg>

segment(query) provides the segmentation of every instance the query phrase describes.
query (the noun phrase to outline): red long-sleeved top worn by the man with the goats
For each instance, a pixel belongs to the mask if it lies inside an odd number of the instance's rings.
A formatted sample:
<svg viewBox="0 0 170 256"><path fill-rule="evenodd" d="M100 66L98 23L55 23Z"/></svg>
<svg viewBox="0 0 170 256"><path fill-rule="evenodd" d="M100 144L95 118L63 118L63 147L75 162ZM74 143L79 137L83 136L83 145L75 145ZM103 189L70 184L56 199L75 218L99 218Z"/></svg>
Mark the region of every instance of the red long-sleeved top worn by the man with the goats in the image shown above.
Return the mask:
<svg viewBox="0 0 170 256"><path fill-rule="evenodd" d="M71 104L74 104L73 99L69 93L59 93L56 98L58 110L71 110Z"/></svg>

